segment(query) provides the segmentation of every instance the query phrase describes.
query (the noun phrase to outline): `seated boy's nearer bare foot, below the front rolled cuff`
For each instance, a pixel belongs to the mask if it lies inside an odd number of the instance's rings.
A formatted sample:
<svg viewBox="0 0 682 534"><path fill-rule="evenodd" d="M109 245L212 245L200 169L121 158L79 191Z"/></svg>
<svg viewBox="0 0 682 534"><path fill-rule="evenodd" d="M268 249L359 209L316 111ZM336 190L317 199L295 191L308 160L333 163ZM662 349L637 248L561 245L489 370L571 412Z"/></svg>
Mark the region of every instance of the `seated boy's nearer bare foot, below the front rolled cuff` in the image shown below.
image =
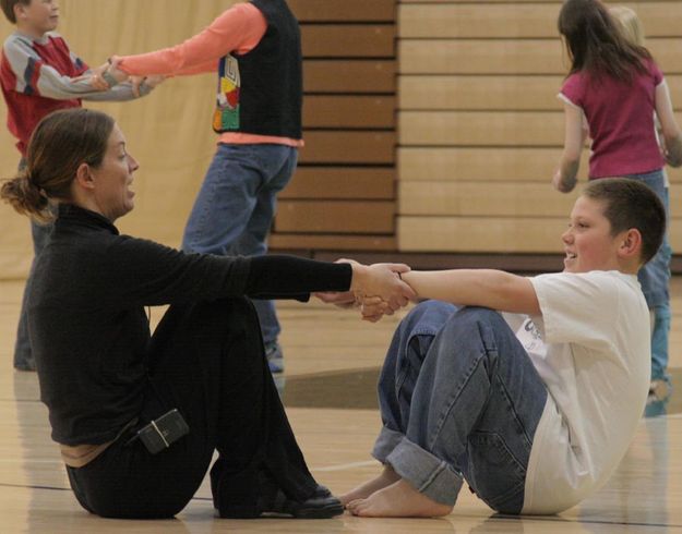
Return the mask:
<svg viewBox="0 0 682 534"><path fill-rule="evenodd" d="M431 500L403 480L364 499L351 500L346 508L363 518L439 518L453 509Z"/></svg>

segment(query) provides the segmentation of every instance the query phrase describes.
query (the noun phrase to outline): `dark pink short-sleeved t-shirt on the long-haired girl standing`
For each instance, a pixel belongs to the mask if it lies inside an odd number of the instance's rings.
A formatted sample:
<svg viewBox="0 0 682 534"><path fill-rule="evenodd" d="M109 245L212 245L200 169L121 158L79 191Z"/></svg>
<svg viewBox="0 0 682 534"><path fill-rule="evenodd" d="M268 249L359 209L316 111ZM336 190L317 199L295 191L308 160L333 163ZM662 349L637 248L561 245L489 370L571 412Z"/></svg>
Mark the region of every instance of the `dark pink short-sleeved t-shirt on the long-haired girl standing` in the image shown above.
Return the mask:
<svg viewBox="0 0 682 534"><path fill-rule="evenodd" d="M632 84L603 75L571 74L559 97L585 113L593 139L589 178L642 174L665 166L654 125L656 87L663 75L654 61Z"/></svg>

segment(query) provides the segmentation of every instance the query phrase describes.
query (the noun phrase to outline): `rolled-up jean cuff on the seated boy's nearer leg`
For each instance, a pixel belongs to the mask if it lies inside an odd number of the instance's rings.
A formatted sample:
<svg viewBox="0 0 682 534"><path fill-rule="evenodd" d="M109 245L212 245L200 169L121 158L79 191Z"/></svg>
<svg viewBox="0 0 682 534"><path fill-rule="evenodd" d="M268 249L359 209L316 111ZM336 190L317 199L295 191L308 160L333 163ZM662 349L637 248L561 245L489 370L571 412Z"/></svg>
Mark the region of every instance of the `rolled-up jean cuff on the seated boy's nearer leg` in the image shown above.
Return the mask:
<svg viewBox="0 0 682 534"><path fill-rule="evenodd" d="M459 476L447 462L404 437L386 458L400 478L441 505L453 506L462 488Z"/></svg>

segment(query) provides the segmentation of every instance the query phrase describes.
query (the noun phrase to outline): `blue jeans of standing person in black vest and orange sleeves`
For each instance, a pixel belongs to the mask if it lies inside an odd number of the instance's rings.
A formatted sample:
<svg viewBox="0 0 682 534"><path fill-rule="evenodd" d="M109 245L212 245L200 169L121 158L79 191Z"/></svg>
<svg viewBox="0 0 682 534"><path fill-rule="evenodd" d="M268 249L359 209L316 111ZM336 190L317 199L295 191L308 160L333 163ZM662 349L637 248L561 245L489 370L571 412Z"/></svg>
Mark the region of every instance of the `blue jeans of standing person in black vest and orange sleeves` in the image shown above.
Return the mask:
<svg viewBox="0 0 682 534"><path fill-rule="evenodd" d="M285 145L219 144L184 229L182 250L254 256L267 252L266 239L277 193L289 183L298 150ZM254 301L265 343L280 327L272 301Z"/></svg>

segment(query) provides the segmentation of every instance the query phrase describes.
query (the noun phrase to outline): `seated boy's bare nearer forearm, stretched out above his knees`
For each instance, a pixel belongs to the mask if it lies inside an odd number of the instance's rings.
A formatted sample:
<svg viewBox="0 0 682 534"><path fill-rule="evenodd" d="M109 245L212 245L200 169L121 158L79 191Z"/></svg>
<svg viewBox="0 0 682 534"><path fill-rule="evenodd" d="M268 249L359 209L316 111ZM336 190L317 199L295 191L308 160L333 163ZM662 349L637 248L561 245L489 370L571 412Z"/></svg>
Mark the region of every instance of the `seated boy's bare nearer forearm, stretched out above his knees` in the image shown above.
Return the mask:
<svg viewBox="0 0 682 534"><path fill-rule="evenodd" d="M409 271L402 275L420 299L534 315L540 304L529 279L493 269Z"/></svg>

